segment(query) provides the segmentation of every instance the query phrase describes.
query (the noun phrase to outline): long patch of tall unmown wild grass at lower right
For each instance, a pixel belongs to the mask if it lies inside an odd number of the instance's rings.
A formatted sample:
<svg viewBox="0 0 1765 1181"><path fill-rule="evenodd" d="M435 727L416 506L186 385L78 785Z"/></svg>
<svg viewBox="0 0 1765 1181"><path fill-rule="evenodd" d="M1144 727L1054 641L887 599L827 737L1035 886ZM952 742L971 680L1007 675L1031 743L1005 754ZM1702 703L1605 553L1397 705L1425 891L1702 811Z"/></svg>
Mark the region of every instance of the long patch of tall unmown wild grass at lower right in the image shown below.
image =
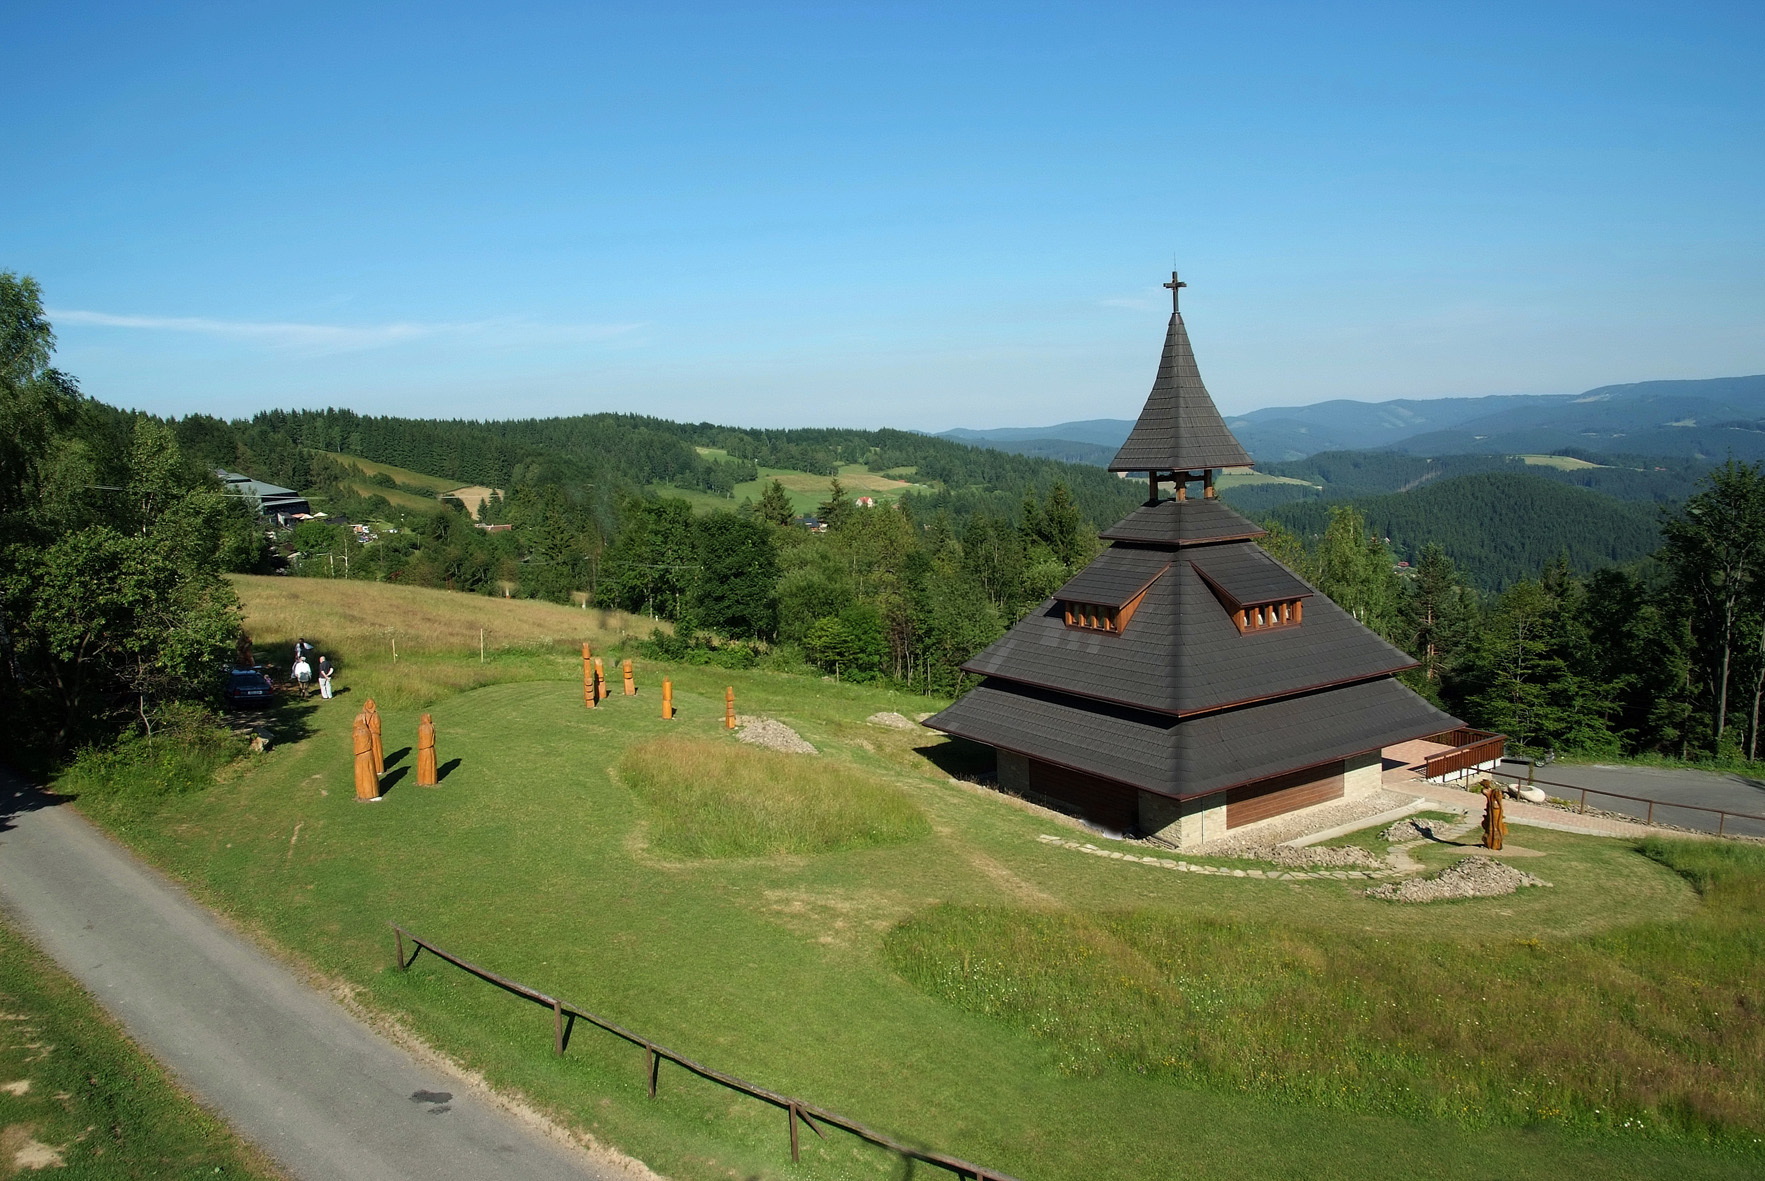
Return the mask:
<svg viewBox="0 0 1765 1181"><path fill-rule="evenodd" d="M1052 1040L1066 1070L1756 1149L1765 849L1647 854L1700 886L1696 916L1553 944L944 904L884 946L921 990Z"/></svg>

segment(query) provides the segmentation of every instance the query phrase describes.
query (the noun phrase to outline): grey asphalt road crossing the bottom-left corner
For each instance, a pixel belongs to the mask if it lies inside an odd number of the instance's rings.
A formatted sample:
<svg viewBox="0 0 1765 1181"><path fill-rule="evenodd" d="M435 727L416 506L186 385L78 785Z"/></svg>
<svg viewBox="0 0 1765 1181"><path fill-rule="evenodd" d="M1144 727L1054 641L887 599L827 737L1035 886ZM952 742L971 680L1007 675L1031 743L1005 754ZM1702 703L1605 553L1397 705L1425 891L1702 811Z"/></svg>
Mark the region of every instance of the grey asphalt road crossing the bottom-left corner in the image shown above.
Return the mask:
<svg viewBox="0 0 1765 1181"><path fill-rule="evenodd" d="M297 1177L632 1177L387 1042L71 807L4 773L0 906L191 1093Z"/></svg>

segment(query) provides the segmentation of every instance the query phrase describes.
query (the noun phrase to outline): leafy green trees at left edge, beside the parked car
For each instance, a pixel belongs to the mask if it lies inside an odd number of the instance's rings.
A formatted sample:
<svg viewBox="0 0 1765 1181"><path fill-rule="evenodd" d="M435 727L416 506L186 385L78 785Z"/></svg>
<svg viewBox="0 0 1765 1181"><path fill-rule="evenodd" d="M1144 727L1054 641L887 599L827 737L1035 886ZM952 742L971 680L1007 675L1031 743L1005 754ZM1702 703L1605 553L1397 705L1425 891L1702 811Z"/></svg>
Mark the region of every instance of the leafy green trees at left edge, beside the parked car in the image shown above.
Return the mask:
<svg viewBox="0 0 1765 1181"><path fill-rule="evenodd" d="M215 704L240 636L222 574L265 553L254 507L53 350L37 284L0 272L0 750L25 766Z"/></svg>

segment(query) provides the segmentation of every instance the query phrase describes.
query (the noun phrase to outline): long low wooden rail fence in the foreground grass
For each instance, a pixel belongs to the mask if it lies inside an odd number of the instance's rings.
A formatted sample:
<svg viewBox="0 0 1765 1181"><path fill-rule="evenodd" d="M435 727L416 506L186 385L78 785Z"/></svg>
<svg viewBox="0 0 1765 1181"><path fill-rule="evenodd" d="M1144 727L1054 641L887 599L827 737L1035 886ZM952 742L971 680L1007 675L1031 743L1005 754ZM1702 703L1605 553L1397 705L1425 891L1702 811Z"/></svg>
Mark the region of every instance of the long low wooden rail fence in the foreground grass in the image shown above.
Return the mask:
<svg viewBox="0 0 1765 1181"><path fill-rule="evenodd" d="M447 960L454 967L471 973L478 980L484 980L487 983L496 985L498 989L503 989L505 992L512 992L526 1001L533 1001L535 1004L544 1004L545 1008L549 1008L552 1012L552 1054L561 1056L565 1052L565 1047L570 1045L570 1033L575 1027L575 1020L582 1019L588 1024L598 1026L607 1033L611 1033L612 1036L623 1038L625 1042L630 1042L632 1045L641 1047L644 1050L644 1077L648 1079L650 1084L650 1098L657 1096L657 1080L662 1070L662 1063L669 1061L680 1066L681 1070L699 1075L701 1079L708 1079L710 1082L729 1087L731 1091L740 1091L741 1094L757 1098L762 1103L771 1103L773 1107L785 1112L785 1121L791 1132L792 1162L798 1160L798 1121L801 1121L805 1126L808 1126L810 1132L814 1132L822 1140L828 1137L817 1126L817 1123L849 1132L860 1140L867 1140L870 1144L875 1144L877 1147L884 1147L895 1153L897 1156L902 1156L904 1160L911 1162L916 1160L920 1163L932 1165L935 1169L944 1169L946 1172L953 1172L957 1177L973 1177L974 1181L1017 1181L1017 1177L1013 1177L1011 1174L999 1172L995 1169L983 1169L957 1156L946 1156L944 1153L934 1153L930 1149L921 1149L911 1144L904 1144L891 1135L886 1135L874 1128L867 1128L856 1119L847 1119L838 1112L830 1112L824 1107L817 1107L815 1103L791 1098L789 1094L778 1094L777 1091L755 1086L745 1079L727 1075L722 1070L713 1070L704 1063L695 1063L685 1054L678 1054L667 1049L665 1045L658 1045L639 1033L632 1033L625 1026L607 1020L605 1017L597 1017L595 1013L590 1013L584 1008L570 1004L568 1001L547 996L545 992L531 989L521 983L519 980L499 976L492 973L489 967L480 967L471 960L454 955L452 952L445 952L438 948L434 943L429 943L427 939L413 934L411 930L406 930L397 923L387 923L387 925L392 927L394 937L397 939L399 971L406 971L411 964L415 964L418 953L429 952L431 955ZM417 944L417 950L411 952L409 959L404 959L406 939Z"/></svg>

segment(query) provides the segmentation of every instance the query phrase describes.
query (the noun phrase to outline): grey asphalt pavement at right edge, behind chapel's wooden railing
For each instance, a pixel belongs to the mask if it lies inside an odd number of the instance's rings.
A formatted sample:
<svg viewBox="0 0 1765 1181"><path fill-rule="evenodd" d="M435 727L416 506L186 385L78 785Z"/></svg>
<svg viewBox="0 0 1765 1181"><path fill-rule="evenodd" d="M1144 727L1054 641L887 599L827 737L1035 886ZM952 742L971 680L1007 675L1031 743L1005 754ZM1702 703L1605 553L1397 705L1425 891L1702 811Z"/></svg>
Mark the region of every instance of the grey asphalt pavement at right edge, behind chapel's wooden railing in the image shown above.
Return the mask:
<svg viewBox="0 0 1765 1181"><path fill-rule="evenodd" d="M1523 763L1502 763L1500 770L1506 775L1518 775L1520 779L1525 779L1527 775ZM1747 779L1746 775L1693 771L1687 768L1666 766L1551 763L1550 766L1537 768L1537 779L1550 780L1553 784L1567 784L1569 787L1551 787L1543 782L1539 784L1546 793L1560 800L1578 801L1581 796L1573 789L1588 787L1587 807L1590 809L1624 812L1626 816L1647 819L1647 803L1594 794L1596 791L1611 791L1619 796L1641 796L1643 800L1661 801L1654 807L1654 819L1659 824L1677 824L1679 828L1696 828L1712 833L1717 830L1717 824L1721 824L1723 831L1728 833L1765 837L1765 821L1740 817L1728 817L1726 821L1721 821L1710 812L1673 807L1689 803L1705 809L1726 809L1728 812L1751 812L1753 816L1765 816L1765 780Z"/></svg>

